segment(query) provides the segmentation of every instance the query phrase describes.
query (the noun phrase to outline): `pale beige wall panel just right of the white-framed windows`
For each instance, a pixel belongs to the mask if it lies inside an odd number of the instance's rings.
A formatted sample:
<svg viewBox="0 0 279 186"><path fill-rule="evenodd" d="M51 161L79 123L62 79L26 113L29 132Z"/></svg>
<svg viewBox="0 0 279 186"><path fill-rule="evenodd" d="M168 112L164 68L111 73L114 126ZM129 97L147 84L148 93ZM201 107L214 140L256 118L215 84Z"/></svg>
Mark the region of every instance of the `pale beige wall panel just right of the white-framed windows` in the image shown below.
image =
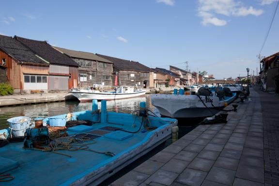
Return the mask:
<svg viewBox="0 0 279 186"><path fill-rule="evenodd" d="M48 90L65 91L68 90L68 79L66 76L49 76Z"/></svg>

